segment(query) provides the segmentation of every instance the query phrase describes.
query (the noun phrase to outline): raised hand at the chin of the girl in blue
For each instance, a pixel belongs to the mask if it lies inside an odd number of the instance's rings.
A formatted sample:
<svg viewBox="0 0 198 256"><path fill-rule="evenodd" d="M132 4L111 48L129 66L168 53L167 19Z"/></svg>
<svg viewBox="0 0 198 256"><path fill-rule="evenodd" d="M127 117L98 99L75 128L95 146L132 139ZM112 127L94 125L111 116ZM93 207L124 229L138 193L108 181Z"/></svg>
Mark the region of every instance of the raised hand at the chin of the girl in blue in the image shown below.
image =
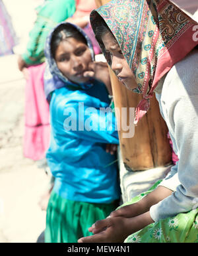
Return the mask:
<svg viewBox="0 0 198 256"><path fill-rule="evenodd" d="M84 77L96 78L104 82L108 93L112 95L112 84L108 64L106 62L90 62L88 71L84 72Z"/></svg>

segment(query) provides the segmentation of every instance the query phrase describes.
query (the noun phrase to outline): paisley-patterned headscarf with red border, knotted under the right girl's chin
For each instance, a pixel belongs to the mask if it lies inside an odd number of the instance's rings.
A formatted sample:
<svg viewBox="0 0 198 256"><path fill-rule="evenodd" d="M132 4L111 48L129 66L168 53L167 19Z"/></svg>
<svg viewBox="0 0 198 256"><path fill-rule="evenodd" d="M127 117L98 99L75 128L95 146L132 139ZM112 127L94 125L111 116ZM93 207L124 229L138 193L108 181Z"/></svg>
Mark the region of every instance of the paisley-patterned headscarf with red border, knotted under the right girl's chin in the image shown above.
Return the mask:
<svg viewBox="0 0 198 256"><path fill-rule="evenodd" d="M102 18L133 71L138 84L133 92L143 94L136 124L147 113L160 79L198 44L193 40L197 23L169 0L110 1L90 14L94 32Z"/></svg>

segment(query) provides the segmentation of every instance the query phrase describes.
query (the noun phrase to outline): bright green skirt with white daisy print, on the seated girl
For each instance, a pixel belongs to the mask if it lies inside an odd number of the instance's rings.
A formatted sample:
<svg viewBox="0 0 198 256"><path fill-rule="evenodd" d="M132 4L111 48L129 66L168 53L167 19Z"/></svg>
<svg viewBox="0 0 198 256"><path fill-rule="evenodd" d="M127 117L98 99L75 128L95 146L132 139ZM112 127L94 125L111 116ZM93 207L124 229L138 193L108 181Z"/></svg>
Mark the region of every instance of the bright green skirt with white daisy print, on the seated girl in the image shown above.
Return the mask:
<svg viewBox="0 0 198 256"><path fill-rule="evenodd" d="M123 204L134 204L152 192L161 180L156 182L149 191ZM198 208L181 213L172 218L154 222L125 239L125 243L198 243Z"/></svg>

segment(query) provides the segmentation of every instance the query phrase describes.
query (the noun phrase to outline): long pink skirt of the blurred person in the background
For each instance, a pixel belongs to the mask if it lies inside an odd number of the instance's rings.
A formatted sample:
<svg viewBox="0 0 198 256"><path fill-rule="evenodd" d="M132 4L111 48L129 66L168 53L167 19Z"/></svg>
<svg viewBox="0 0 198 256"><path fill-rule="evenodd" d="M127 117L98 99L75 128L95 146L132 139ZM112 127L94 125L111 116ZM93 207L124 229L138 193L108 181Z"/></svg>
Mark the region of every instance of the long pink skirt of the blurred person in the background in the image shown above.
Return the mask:
<svg viewBox="0 0 198 256"><path fill-rule="evenodd" d="M43 159L49 147L49 104L44 94L46 64L28 68L29 79L25 88L24 157Z"/></svg>

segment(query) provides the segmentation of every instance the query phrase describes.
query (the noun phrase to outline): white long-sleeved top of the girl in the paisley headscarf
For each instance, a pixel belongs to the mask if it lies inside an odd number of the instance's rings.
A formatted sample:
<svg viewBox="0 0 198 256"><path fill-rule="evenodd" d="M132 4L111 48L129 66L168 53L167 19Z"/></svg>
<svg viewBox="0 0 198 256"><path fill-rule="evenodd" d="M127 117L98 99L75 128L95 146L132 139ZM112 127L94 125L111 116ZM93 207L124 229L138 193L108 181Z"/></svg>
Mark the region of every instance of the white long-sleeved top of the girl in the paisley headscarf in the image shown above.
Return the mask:
<svg viewBox="0 0 198 256"><path fill-rule="evenodd" d="M156 98L180 160L160 184L174 192L150 208L155 222L192 210L198 199L198 50L174 65L160 86Z"/></svg>

